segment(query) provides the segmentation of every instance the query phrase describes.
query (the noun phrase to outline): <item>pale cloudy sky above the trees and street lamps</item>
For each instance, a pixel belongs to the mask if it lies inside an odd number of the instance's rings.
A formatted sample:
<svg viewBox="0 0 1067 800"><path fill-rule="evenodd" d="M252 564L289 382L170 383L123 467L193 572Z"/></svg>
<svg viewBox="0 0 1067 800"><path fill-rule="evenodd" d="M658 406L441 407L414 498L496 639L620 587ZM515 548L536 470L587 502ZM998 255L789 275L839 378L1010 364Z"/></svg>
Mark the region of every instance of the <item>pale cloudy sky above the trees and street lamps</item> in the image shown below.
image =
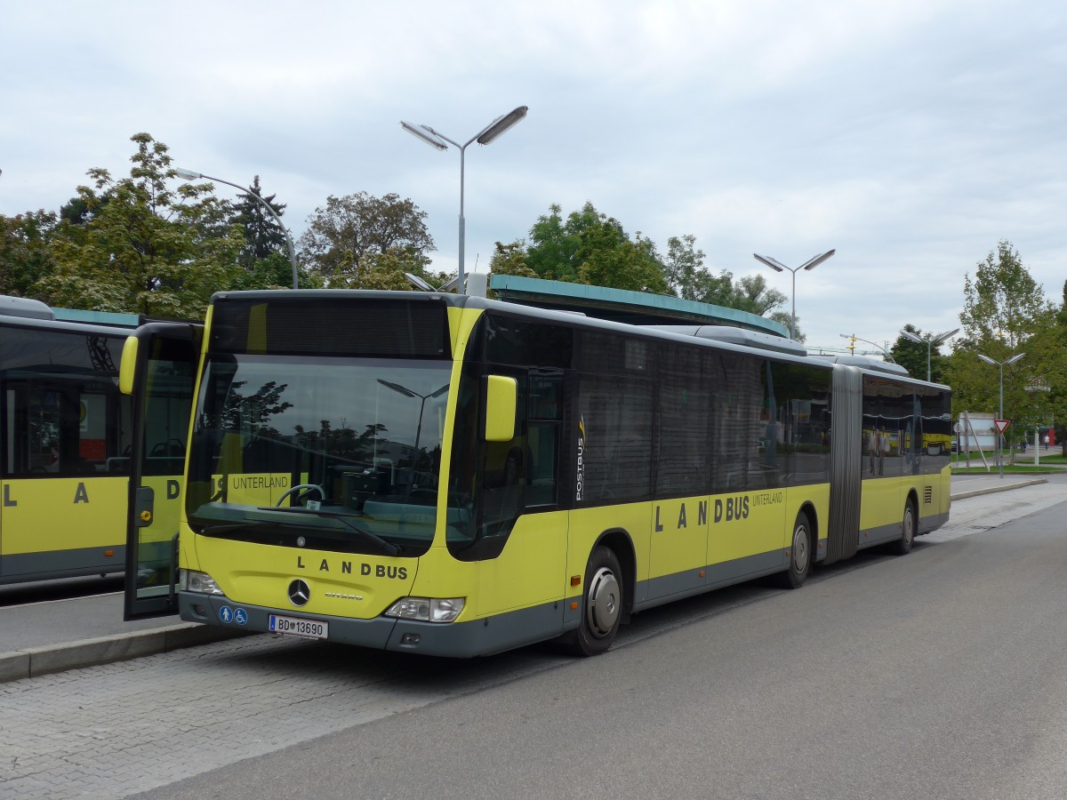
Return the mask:
<svg viewBox="0 0 1067 800"><path fill-rule="evenodd" d="M58 211L130 137L287 204L426 212L434 271L467 271L586 202L666 255L763 274L811 349L959 327L965 276L1010 241L1067 281L1067 4L984 0L96 3L0 0L0 213ZM236 191L219 186L218 194ZM812 271L775 273L752 257Z"/></svg>

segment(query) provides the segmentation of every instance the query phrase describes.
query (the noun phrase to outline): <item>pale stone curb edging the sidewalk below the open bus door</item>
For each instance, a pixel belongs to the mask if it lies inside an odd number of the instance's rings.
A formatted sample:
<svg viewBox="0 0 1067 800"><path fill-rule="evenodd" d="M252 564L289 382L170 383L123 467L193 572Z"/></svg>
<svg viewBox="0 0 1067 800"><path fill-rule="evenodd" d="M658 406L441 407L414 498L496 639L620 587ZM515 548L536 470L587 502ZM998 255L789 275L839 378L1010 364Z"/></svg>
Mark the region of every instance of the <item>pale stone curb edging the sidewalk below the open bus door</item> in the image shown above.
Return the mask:
<svg viewBox="0 0 1067 800"><path fill-rule="evenodd" d="M50 644L0 653L0 683L48 675L79 667L124 661L180 647L233 639L237 636L246 634L190 622L155 630L101 636L70 644Z"/></svg>

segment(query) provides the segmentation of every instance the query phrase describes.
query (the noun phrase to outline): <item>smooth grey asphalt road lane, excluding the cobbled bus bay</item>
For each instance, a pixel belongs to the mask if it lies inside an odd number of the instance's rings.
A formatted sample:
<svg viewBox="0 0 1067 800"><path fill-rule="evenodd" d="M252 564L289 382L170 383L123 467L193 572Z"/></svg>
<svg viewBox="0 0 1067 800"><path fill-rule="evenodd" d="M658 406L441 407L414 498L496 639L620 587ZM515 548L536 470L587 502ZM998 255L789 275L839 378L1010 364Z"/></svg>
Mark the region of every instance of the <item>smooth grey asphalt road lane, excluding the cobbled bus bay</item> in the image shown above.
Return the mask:
<svg viewBox="0 0 1067 800"><path fill-rule="evenodd" d="M1067 506L1038 494L148 797L1065 797Z"/></svg>

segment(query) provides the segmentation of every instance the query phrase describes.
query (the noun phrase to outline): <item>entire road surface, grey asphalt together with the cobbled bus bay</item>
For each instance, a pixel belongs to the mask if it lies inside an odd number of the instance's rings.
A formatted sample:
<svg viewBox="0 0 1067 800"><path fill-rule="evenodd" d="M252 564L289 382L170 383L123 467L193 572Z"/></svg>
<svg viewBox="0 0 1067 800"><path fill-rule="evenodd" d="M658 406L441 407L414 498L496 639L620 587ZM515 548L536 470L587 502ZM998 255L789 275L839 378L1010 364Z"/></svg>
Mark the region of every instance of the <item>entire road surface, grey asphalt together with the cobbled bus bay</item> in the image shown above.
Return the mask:
<svg viewBox="0 0 1067 800"><path fill-rule="evenodd" d="M1063 483L474 661L250 637L0 685L0 796L1062 797Z"/></svg>

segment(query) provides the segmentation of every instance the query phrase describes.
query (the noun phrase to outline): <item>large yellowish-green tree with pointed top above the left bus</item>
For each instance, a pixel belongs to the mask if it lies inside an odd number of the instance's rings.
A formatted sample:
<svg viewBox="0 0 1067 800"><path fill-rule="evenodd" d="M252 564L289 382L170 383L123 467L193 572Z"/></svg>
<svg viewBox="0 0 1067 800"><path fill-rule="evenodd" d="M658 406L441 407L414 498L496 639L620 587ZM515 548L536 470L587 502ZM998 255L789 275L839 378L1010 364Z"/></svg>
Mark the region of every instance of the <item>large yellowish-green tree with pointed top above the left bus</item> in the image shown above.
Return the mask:
<svg viewBox="0 0 1067 800"><path fill-rule="evenodd" d="M64 222L54 239L55 270L35 289L53 305L101 311L200 318L207 301L238 274L240 231L210 183L175 178L168 147L148 133L131 137L128 178L89 171L79 187L89 217Z"/></svg>

